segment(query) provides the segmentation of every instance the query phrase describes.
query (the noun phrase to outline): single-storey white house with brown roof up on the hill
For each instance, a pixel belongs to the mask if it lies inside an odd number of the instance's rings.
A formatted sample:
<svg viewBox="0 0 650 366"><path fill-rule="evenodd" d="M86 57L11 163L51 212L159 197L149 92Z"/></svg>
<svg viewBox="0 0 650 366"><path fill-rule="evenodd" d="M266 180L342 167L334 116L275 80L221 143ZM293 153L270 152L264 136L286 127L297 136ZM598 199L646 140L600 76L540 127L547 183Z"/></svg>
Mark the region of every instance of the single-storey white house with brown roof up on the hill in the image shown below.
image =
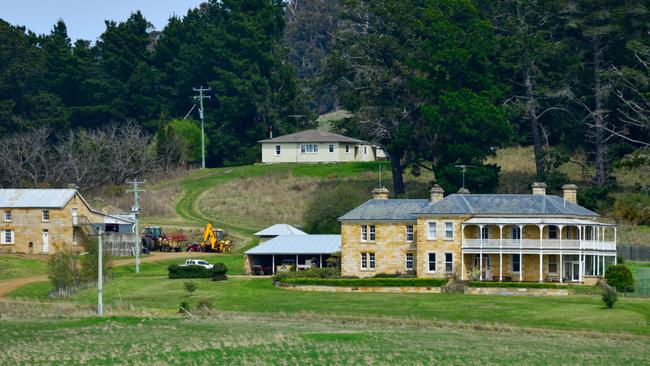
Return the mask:
<svg viewBox="0 0 650 366"><path fill-rule="evenodd" d="M375 161L386 157L369 142L316 129L259 142L265 164Z"/></svg>

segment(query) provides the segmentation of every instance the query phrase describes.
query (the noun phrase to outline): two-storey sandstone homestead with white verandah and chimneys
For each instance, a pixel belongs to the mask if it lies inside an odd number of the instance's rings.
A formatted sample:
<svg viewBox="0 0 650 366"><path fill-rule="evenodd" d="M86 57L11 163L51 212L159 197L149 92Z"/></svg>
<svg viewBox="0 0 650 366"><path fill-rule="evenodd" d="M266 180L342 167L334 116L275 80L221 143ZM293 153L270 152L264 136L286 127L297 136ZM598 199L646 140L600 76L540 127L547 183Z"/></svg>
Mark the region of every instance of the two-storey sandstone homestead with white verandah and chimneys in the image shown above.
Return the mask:
<svg viewBox="0 0 650 366"><path fill-rule="evenodd" d="M535 183L532 194L390 199L386 188L339 218L341 274L415 273L460 280L595 283L616 263L616 226Z"/></svg>

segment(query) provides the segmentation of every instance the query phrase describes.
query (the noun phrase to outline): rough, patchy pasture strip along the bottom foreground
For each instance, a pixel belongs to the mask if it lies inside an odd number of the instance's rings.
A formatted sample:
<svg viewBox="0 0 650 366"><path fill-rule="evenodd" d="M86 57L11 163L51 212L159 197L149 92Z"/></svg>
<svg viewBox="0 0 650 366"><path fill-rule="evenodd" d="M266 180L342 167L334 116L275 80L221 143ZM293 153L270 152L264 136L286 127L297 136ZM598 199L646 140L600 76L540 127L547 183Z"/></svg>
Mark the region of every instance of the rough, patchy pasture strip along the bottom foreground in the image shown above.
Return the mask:
<svg viewBox="0 0 650 366"><path fill-rule="evenodd" d="M297 316L11 319L0 343L2 365L650 363L647 338Z"/></svg>

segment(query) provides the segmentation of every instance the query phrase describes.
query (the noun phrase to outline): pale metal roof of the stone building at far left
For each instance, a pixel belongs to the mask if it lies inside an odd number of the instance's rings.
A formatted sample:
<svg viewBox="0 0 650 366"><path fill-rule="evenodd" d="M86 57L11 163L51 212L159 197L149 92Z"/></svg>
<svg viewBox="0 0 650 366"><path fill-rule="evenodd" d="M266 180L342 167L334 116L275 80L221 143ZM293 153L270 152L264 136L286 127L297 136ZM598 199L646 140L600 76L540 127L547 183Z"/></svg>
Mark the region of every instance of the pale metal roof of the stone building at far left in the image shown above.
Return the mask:
<svg viewBox="0 0 650 366"><path fill-rule="evenodd" d="M0 208L62 208L76 189L0 189Z"/></svg>

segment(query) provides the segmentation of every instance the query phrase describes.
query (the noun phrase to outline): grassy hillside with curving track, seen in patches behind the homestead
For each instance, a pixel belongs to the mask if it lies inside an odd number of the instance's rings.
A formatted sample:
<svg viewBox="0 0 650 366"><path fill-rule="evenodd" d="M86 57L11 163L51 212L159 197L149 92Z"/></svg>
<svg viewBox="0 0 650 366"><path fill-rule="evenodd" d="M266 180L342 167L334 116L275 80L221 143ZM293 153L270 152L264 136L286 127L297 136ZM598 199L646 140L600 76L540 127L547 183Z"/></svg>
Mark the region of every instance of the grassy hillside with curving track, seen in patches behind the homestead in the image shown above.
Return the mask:
<svg viewBox="0 0 650 366"><path fill-rule="evenodd" d="M529 192L529 182L534 179L531 148L500 150L490 162L501 167L500 192ZM249 165L190 171L145 187L140 203L143 224L161 225L166 230L181 229L196 240L205 224L212 222L233 235L241 248L251 244L254 232L272 224L304 226L303 215L309 200L325 187L344 185L358 192L361 202L370 198L370 191L379 184L380 164L383 164L383 184L391 189L388 162ZM578 184L589 174L574 163L565 164L562 170ZM620 189L615 196L632 192L636 184L650 181L647 173L618 170L616 176ZM420 177L407 174L405 179L408 197L428 197L431 174ZM97 204L108 203L124 210L132 204L128 195L97 198L91 197ZM619 238L621 243L646 244L650 242L650 230L645 226L622 225Z"/></svg>

